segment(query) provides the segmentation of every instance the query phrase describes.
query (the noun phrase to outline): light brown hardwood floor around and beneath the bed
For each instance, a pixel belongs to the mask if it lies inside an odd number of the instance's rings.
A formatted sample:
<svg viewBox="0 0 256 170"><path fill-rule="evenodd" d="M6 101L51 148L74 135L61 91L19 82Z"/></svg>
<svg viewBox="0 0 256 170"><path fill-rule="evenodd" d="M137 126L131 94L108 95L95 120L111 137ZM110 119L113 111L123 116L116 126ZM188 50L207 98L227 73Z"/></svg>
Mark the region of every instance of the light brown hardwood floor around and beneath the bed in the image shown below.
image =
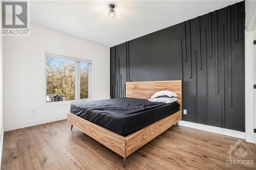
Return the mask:
<svg viewBox="0 0 256 170"><path fill-rule="evenodd" d="M227 167L238 138L187 127L168 129L127 157L127 169L256 169L256 147L245 157L253 167ZM245 147L243 147L246 150ZM236 156L234 156L236 158ZM66 120L5 132L2 169L123 169L122 158Z"/></svg>

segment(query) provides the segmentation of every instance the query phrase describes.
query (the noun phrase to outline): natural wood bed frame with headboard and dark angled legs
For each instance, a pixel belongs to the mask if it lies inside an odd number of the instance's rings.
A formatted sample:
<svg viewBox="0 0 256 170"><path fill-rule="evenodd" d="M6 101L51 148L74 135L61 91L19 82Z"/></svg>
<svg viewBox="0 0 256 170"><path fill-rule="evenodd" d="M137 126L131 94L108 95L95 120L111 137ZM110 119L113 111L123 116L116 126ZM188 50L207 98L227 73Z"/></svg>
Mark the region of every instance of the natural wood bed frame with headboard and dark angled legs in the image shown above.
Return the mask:
<svg viewBox="0 0 256 170"><path fill-rule="evenodd" d="M182 106L182 81L148 81L148 82L126 82L126 97L150 99L157 91L170 90L177 93L180 104L179 110L147 127L138 130L128 136L121 136L110 130L104 129L96 124L89 122L79 116L68 112L68 123L76 126L83 133L94 138L105 145L118 155L123 157L123 167L125 167L126 157L137 151L144 144L151 141L168 128L177 124L181 120Z"/></svg>

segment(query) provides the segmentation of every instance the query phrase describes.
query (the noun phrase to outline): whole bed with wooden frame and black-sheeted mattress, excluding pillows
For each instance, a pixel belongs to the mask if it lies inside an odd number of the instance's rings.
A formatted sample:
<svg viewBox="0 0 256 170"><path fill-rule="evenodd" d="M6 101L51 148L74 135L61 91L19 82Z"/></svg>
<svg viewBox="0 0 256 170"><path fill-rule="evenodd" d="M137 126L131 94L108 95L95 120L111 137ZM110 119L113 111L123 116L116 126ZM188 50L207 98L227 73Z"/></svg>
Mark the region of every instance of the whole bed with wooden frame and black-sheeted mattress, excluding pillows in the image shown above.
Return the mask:
<svg viewBox="0 0 256 170"><path fill-rule="evenodd" d="M172 104L148 102L155 92L177 93ZM68 122L123 157L141 148L181 119L182 82L126 82L126 98L75 102L68 112Z"/></svg>

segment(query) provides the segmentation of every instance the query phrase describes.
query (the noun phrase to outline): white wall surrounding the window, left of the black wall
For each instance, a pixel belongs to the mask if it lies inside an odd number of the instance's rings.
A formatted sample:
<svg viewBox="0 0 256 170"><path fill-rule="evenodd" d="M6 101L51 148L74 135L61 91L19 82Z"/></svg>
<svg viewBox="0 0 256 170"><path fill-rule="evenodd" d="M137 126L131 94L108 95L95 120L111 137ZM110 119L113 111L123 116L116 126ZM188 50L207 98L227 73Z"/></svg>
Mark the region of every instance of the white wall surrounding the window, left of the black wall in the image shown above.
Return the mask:
<svg viewBox="0 0 256 170"><path fill-rule="evenodd" d="M93 99L110 98L109 47L33 24L30 30L3 38L5 131L63 119L70 110L44 106L45 52L92 60Z"/></svg>

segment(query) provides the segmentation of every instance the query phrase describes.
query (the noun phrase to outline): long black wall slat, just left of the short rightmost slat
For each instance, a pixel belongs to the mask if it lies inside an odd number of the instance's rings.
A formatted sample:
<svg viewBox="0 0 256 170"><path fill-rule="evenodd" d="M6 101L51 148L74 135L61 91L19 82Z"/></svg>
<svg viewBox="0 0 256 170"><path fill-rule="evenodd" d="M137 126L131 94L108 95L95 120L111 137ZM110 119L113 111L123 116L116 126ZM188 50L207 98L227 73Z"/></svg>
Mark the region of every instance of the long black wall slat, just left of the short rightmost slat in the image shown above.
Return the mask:
<svg viewBox="0 0 256 170"><path fill-rule="evenodd" d="M231 106L231 28L230 28L230 7L227 13L227 36L228 36L228 106Z"/></svg>

